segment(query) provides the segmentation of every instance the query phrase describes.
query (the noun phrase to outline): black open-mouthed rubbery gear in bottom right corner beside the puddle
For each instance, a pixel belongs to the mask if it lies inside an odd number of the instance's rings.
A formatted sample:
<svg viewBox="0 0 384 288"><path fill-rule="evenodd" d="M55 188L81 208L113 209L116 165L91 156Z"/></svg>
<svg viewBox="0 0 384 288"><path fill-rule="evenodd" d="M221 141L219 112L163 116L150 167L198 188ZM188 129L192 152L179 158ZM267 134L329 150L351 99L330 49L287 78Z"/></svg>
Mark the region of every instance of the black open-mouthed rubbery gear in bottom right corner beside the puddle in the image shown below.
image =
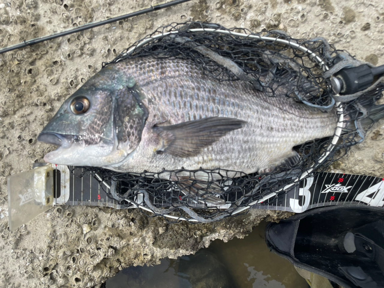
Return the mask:
<svg viewBox="0 0 384 288"><path fill-rule="evenodd" d="M345 288L384 287L384 208L328 206L266 227L273 252Z"/></svg>

